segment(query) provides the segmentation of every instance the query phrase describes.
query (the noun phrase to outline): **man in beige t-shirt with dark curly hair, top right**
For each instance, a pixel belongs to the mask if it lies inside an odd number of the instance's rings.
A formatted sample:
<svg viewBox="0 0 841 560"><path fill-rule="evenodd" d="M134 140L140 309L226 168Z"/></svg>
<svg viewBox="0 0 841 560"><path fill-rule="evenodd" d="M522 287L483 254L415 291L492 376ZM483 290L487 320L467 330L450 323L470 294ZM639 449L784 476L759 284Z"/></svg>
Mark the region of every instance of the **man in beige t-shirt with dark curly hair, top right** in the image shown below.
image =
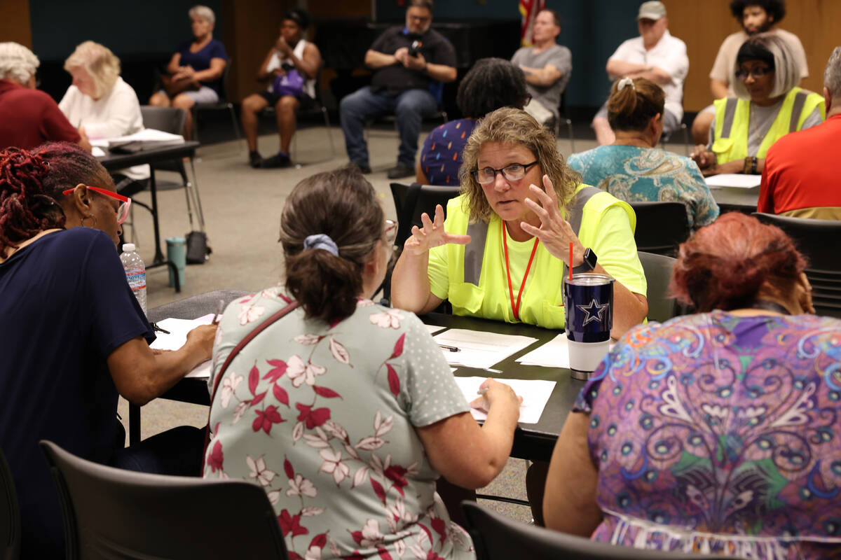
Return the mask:
<svg viewBox="0 0 841 560"><path fill-rule="evenodd" d="M733 17L742 24L742 30L727 35L722 46L718 49L716 61L710 71L710 91L713 99L734 97L733 76L736 71L736 53L739 47L758 33L775 34L791 46L801 68L801 79L809 76L806 63L806 51L796 34L783 29L776 29L775 25L785 17L785 0L733 0L730 3ZM696 116L692 122L692 137L695 144L706 144L710 133L710 123L716 116L716 109L710 104Z"/></svg>

